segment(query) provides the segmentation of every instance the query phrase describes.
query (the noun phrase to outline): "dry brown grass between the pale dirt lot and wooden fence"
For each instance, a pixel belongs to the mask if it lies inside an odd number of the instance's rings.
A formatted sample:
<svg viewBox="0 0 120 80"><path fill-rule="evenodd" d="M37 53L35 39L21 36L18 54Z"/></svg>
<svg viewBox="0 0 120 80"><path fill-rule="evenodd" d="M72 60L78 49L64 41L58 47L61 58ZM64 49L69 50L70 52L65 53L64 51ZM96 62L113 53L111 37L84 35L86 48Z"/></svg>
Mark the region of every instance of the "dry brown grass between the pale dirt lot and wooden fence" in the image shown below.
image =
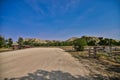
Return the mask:
<svg viewBox="0 0 120 80"><path fill-rule="evenodd" d="M120 79L120 63L116 63L116 60L112 60L111 57L106 53L98 53L97 59L89 58L88 51L74 51L71 46L62 46L66 52L69 52L74 58L79 60L80 63L85 65L89 71L91 71L91 76L96 74L95 70L102 75L107 77L114 77ZM120 59L120 56L117 55ZM111 80L111 79L108 79Z"/></svg>

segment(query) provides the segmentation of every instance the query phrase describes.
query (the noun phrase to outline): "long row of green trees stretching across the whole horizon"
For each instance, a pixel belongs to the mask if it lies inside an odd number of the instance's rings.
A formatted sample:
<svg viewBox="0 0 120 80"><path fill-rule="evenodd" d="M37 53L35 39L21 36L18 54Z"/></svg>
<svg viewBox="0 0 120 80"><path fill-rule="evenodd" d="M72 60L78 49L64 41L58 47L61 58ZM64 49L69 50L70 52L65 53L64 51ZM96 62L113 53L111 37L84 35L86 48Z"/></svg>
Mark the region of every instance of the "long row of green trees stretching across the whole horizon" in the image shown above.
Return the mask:
<svg viewBox="0 0 120 80"><path fill-rule="evenodd" d="M74 46L78 51L84 50L84 46L120 46L120 41L102 38L102 37L86 37L82 36L73 41L47 41L47 43L38 43L33 40L24 41L22 37L19 37L17 40L19 46L29 45L31 47L40 47L40 46ZM0 48L12 47L13 40L12 38L5 39L3 36L0 36Z"/></svg>

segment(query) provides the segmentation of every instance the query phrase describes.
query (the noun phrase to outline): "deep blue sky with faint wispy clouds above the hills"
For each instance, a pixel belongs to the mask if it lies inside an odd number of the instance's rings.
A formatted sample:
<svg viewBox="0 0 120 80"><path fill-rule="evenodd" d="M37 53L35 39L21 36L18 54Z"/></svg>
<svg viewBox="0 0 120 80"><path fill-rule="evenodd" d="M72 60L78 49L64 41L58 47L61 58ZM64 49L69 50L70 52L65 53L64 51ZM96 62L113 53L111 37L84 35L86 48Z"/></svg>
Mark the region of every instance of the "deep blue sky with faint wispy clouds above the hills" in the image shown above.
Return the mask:
<svg viewBox="0 0 120 80"><path fill-rule="evenodd" d="M120 0L0 0L0 34L14 40L120 39Z"/></svg>

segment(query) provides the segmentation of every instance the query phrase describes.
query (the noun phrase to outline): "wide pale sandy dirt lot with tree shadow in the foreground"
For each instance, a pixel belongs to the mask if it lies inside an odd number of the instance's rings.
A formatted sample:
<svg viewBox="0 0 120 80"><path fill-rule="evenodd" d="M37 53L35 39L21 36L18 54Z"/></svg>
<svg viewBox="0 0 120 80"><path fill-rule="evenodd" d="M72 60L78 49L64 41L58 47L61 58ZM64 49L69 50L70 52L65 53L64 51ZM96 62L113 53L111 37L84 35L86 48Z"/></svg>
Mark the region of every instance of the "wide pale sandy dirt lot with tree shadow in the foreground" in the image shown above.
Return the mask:
<svg viewBox="0 0 120 80"><path fill-rule="evenodd" d="M83 64L60 48L0 53L0 80L90 80L89 73Z"/></svg>

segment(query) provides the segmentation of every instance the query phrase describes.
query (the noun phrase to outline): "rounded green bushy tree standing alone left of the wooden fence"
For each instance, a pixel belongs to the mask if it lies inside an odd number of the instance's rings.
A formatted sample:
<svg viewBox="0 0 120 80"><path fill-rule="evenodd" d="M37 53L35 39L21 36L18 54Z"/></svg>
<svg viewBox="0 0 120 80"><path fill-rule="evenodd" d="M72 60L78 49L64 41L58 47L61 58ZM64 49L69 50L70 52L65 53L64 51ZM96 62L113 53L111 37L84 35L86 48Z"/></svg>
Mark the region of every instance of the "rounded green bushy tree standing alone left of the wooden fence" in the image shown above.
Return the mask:
<svg viewBox="0 0 120 80"><path fill-rule="evenodd" d="M87 45L87 42L86 42L85 39L79 38L79 39L74 40L73 45L74 45L75 50L83 51L84 50L84 46Z"/></svg>

